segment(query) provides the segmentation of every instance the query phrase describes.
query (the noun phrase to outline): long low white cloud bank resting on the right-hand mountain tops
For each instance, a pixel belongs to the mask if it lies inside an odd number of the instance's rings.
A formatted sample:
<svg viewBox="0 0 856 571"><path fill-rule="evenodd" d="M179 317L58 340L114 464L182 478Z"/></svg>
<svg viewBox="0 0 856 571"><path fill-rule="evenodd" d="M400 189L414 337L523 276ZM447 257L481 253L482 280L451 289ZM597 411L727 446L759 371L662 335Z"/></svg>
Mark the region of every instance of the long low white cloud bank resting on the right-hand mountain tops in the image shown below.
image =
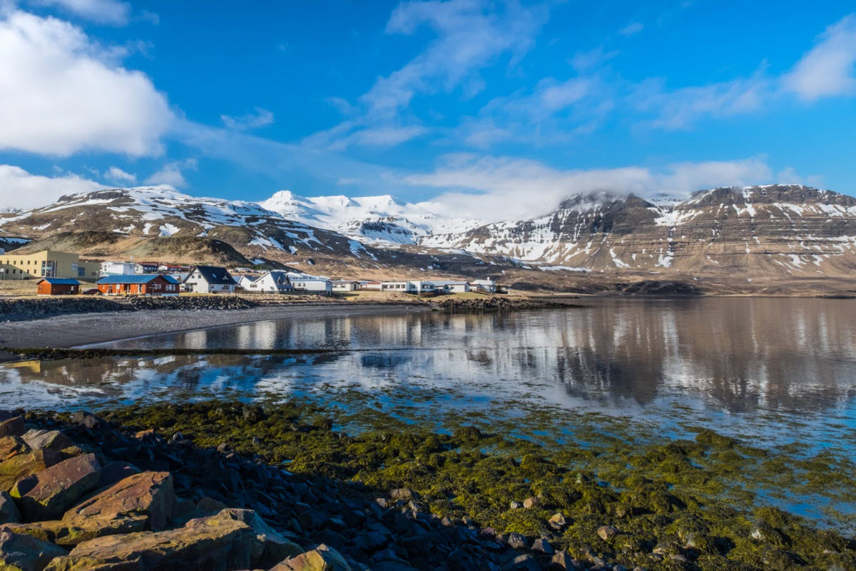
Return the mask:
<svg viewBox="0 0 856 571"><path fill-rule="evenodd" d="M501 220L536 217L575 193L609 191L650 196L685 194L706 187L747 185L770 180L770 167L758 158L679 163L662 169L557 170L537 161L452 155L431 173L407 175L407 184L447 189L432 205L456 217Z"/></svg>

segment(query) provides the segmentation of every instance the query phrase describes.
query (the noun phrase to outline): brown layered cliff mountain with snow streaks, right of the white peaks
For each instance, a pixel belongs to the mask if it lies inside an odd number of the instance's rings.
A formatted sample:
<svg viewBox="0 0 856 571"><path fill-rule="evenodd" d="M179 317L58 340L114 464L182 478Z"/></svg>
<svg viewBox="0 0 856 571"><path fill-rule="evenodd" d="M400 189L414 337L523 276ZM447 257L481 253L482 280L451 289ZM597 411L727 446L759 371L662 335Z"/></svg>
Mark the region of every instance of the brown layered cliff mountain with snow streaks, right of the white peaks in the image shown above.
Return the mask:
<svg viewBox="0 0 856 571"><path fill-rule="evenodd" d="M856 199L781 185L715 188L683 201L591 193L544 217L422 244L506 254L544 270L841 276L856 271Z"/></svg>

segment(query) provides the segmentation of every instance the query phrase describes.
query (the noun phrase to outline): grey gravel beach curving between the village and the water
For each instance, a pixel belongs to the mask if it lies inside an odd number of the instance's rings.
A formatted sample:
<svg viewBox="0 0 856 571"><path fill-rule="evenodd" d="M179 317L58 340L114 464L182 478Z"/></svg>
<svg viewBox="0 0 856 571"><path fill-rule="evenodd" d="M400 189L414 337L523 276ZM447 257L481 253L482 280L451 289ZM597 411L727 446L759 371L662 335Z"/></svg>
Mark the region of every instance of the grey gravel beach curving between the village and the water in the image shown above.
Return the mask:
<svg viewBox="0 0 856 571"><path fill-rule="evenodd" d="M47 319L0 323L0 348L70 348L92 343L158 335L220 325L282 318L403 314L429 311L428 306L309 305L259 306L250 309L199 311L75 313Z"/></svg>

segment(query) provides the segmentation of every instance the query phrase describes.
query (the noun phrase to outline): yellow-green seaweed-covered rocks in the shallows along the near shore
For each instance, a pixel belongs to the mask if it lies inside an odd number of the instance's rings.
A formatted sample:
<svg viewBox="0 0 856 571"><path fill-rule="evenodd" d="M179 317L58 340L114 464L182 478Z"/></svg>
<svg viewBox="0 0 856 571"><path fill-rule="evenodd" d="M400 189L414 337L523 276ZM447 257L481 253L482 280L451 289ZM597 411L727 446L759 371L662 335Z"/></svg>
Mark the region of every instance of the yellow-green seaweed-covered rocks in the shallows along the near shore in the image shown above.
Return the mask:
<svg viewBox="0 0 856 571"><path fill-rule="evenodd" d="M512 432L502 423L450 423L444 433L373 412L359 419L360 431L338 430L357 424L358 415L343 420L306 401L105 413L132 430L181 432L201 446L227 443L289 472L359 482L372 493L407 488L434 514L549 538L581 559L704 571L856 569L856 542L843 528L819 529L746 491L756 478L799 480L796 489L815 479L852 485L853 466L841 459L776 454L704 429L693 439L637 446L621 435L598 442L591 433L585 444L566 438L545 446L505 436Z"/></svg>

